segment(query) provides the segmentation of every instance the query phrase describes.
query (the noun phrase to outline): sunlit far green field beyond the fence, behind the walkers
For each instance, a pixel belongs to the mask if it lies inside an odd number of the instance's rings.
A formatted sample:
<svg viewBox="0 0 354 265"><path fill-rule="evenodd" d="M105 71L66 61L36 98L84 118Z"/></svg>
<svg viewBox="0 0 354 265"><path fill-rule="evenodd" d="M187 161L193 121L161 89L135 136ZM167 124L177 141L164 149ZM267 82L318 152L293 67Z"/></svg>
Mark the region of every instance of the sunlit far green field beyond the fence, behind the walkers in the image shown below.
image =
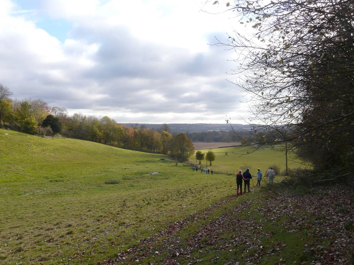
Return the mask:
<svg viewBox="0 0 354 265"><path fill-rule="evenodd" d="M276 148L275 148L276 149ZM259 148L256 152L253 146L236 146L236 147L224 147L215 149L202 149L199 150L202 153L213 151L215 153L215 161L212 162L212 166L208 168L225 171L235 172L240 169L240 166L251 166L251 173L256 173L257 169L261 169L263 174L267 172L269 166L277 165L281 171L285 170L285 153L281 151L274 151L270 147ZM249 152L249 154L247 154ZM227 155L225 155L227 153ZM245 154L245 155L241 155ZM290 169L296 169L297 167L303 167L298 163L299 161L292 154L288 154L288 167ZM189 158L189 163L195 164L195 155ZM199 163L199 161L197 161ZM201 161L201 166L206 167L206 160Z"/></svg>

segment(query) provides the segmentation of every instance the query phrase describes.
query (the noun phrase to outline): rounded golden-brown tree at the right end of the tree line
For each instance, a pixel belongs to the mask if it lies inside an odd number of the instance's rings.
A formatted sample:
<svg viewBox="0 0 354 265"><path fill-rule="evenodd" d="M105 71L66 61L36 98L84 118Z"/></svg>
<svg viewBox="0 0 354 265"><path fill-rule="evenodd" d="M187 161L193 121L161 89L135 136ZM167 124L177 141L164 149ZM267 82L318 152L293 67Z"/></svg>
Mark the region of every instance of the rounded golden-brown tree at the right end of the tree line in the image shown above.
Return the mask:
<svg viewBox="0 0 354 265"><path fill-rule="evenodd" d="M180 161L186 161L194 154L194 145L185 133L173 135L169 148L171 155L176 156Z"/></svg>

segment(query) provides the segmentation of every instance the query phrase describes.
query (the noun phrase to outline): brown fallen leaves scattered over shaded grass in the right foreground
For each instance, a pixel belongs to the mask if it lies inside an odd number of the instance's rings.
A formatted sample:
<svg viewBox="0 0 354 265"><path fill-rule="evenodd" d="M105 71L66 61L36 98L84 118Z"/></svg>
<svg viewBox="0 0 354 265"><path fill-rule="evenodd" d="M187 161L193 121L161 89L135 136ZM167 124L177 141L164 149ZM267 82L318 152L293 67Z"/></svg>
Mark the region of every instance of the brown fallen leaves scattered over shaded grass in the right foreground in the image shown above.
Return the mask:
<svg viewBox="0 0 354 265"><path fill-rule="evenodd" d="M251 264L260 258L277 257L275 264L285 264L289 260L281 257L281 251L289 248L287 243L272 240L271 245L264 245L264 242L279 232L301 232L307 237L303 241L300 238L297 243L303 244L305 249L299 255L312 257L311 264L344 263L354 244L350 223L354 220L354 208L348 198L353 198L353 191L348 187L318 188L303 196L284 192L270 196L262 205L256 206L255 211L261 220L256 221L250 211L255 205L251 197L241 205L213 216L213 212L235 199L231 197L170 223L155 235L139 240L138 246L121 251L115 259L105 262L142 262L150 255L158 259L158 264L219 263L227 252L231 258L225 264L238 264L241 257L242 262ZM244 216L241 217L240 212L245 213ZM179 232L198 222L202 225L181 239ZM239 225L245 223L247 225ZM223 235L231 236L221 238ZM311 241L308 238L312 238ZM324 244L327 241L329 243Z"/></svg>

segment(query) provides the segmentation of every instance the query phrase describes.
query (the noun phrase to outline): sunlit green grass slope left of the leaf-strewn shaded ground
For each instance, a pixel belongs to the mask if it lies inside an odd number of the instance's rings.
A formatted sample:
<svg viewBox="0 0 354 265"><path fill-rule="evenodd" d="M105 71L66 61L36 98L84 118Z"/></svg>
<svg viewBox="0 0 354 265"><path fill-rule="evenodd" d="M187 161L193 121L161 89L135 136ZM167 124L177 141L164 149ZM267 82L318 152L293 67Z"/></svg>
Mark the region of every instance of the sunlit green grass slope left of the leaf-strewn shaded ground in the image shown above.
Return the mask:
<svg viewBox="0 0 354 265"><path fill-rule="evenodd" d="M234 181L198 175L163 155L87 141L0 130L0 144L0 257L6 263L114 257L229 196ZM112 180L117 184L105 184Z"/></svg>

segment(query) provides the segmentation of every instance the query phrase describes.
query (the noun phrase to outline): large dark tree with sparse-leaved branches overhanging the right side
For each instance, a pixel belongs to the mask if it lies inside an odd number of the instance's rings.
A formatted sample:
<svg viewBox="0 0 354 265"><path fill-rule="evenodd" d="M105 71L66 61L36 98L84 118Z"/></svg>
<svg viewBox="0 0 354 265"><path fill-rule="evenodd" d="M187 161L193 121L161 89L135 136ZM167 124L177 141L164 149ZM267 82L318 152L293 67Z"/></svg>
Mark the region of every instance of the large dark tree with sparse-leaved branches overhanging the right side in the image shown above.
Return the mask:
<svg viewBox="0 0 354 265"><path fill-rule="evenodd" d="M262 124L252 133L272 136L252 142L286 142L319 173L347 175L354 168L353 1L225 3L246 31L216 45L238 51L234 83L247 94L251 123Z"/></svg>

